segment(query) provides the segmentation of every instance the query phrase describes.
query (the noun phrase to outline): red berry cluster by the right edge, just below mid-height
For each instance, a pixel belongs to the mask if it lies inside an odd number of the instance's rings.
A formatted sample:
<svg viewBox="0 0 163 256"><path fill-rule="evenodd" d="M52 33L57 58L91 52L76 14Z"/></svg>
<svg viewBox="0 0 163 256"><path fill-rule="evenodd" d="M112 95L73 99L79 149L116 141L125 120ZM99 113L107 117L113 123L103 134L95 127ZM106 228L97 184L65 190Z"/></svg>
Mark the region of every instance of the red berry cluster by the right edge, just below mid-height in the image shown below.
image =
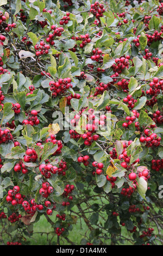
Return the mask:
<svg viewBox="0 0 163 256"><path fill-rule="evenodd" d="M159 147L161 141L161 137L156 135L156 133L152 133L151 130L146 129L144 131L144 135L140 137L140 142L145 143L147 147Z"/></svg>

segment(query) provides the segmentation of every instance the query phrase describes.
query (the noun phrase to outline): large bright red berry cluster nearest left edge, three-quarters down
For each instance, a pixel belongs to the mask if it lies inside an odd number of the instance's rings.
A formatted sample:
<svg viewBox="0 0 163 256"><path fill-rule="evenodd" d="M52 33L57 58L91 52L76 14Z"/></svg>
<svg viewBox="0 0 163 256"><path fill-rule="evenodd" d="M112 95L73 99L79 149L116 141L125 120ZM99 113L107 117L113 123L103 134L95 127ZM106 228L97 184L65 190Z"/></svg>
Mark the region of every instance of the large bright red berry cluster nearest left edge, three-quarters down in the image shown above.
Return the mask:
<svg viewBox="0 0 163 256"><path fill-rule="evenodd" d="M13 190L9 190L6 197L7 202L11 202L12 205L22 204L24 196L18 193L19 191L19 186L14 186Z"/></svg>

